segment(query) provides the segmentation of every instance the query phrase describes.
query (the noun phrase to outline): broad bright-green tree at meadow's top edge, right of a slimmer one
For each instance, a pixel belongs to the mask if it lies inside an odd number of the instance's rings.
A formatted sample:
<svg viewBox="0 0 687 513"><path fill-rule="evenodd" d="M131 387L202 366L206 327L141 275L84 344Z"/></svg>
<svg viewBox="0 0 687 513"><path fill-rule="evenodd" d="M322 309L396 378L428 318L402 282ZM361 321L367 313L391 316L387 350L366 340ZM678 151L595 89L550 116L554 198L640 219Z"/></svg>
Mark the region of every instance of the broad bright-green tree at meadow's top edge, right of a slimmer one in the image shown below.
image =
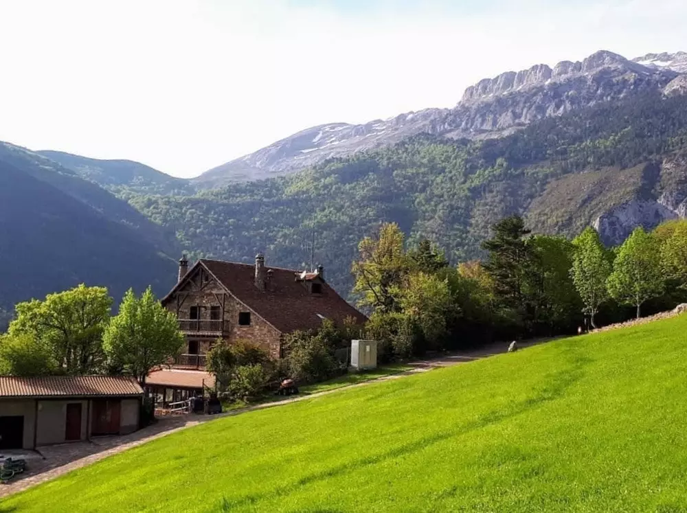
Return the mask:
<svg viewBox="0 0 687 513"><path fill-rule="evenodd" d="M637 307L640 318L642 304L664 290L664 275L657 258L657 240L638 227L622 243L608 277L608 290L613 299Z"/></svg>

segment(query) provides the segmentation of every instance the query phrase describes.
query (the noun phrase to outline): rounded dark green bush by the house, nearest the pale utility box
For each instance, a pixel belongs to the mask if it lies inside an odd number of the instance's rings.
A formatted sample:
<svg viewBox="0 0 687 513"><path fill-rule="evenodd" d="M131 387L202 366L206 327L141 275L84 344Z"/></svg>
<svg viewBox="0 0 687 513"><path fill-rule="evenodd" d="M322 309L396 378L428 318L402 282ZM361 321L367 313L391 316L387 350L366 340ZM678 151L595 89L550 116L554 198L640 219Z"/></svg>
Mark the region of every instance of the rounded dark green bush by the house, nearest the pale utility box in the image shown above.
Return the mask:
<svg viewBox="0 0 687 513"><path fill-rule="evenodd" d="M326 343L317 336L295 332L286 340L286 366L297 381L315 383L339 374L339 365Z"/></svg>

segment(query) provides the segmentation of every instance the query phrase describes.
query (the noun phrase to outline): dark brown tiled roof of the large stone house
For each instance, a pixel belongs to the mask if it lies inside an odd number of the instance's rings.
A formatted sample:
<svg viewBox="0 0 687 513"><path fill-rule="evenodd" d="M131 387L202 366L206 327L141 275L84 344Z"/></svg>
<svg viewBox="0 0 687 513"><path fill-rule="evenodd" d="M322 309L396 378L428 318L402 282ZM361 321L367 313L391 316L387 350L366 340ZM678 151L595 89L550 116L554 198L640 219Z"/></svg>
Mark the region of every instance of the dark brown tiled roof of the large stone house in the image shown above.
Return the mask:
<svg viewBox="0 0 687 513"><path fill-rule="evenodd" d="M199 262L239 301L282 333L320 328L322 317L337 323L346 317L353 317L358 323L367 321L324 280L322 293L311 293L303 282L296 280L296 275L302 274L300 271L266 265L265 270L271 269L272 277L267 290L261 292L254 282L255 267L250 264L204 259ZM308 280L317 276L308 275Z"/></svg>

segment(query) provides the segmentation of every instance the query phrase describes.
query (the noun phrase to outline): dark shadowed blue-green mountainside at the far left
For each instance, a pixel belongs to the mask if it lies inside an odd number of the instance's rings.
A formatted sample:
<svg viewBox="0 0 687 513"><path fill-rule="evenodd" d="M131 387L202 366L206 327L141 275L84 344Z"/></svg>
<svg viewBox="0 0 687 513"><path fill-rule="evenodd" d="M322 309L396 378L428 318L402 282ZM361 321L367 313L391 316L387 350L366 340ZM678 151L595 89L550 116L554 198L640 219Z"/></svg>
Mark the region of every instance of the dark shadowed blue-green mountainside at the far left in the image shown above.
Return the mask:
<svg viewBox="0 0 687 513"><path fill-rule="evenodd" d="M117 301L130 286L166 293L175 269L163 228L23 151L0 144L0 324L16 302L82 282L107 286Z"/></svg>

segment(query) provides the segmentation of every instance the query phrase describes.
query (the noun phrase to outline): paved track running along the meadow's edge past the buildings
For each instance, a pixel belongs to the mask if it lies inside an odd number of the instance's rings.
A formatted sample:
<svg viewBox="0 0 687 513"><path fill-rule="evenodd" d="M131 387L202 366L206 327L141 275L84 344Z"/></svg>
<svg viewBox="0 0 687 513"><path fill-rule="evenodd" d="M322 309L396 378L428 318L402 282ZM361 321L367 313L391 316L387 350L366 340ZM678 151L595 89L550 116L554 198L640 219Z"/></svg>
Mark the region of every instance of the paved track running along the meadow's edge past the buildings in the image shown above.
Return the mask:
<svg viewBox="0 0 687 513"><path fill-rule="evenodd" d="M520 343L519 347L528 347L537 343L542 343L548 339L541 339L537 341L529 341L527 343ZM130 435L113 436L113 437L95 437L90 442L76 442L71 444L61 444L57 446L41 447L40 451L36 451L39 457L32 457L30 459L30 470L25 475L20 475L8 484L0 485L0 497L6 497L21 490L26 490L38 483L55 479L56 477L71 472L90 464L106 458L110 455L121 453L129 448L145 444L150 440L155 440L159 437L176 433L182 429L187 429L192 426L197 426L203 422L211 422L218 418L232 417L240 415L247 411L255 411L265 408L273 408L282 406L282 404L289 404L302 400L317 398L319 396L326 396L327 394L335 394L341 390L350 389L352 387L364 387L371 383L378 383L379 381L398 379L410 374L418 372L427 372L432 369L440 367L450 367L458 365L459 363L466 363L469 361L486 358L495 354L501 354L508 350L507 343L494 343L480 350L467 350L460 352L450 352L444 354L436 354L425 360L419 360L409 363L413 368L400 372L398 374L390 374L382 376L361 383L355 383L336 389L317 392L315 394L308 394L302 396L295 396L286 398L280 401L265 402L262 404L255 404L254 406L245 407L233 411L227 411L218 415L179 415L177 417L162 418L153 426L148 426L144 429L131 433ZM42 456L43 458L41 458Z"/></svg>

